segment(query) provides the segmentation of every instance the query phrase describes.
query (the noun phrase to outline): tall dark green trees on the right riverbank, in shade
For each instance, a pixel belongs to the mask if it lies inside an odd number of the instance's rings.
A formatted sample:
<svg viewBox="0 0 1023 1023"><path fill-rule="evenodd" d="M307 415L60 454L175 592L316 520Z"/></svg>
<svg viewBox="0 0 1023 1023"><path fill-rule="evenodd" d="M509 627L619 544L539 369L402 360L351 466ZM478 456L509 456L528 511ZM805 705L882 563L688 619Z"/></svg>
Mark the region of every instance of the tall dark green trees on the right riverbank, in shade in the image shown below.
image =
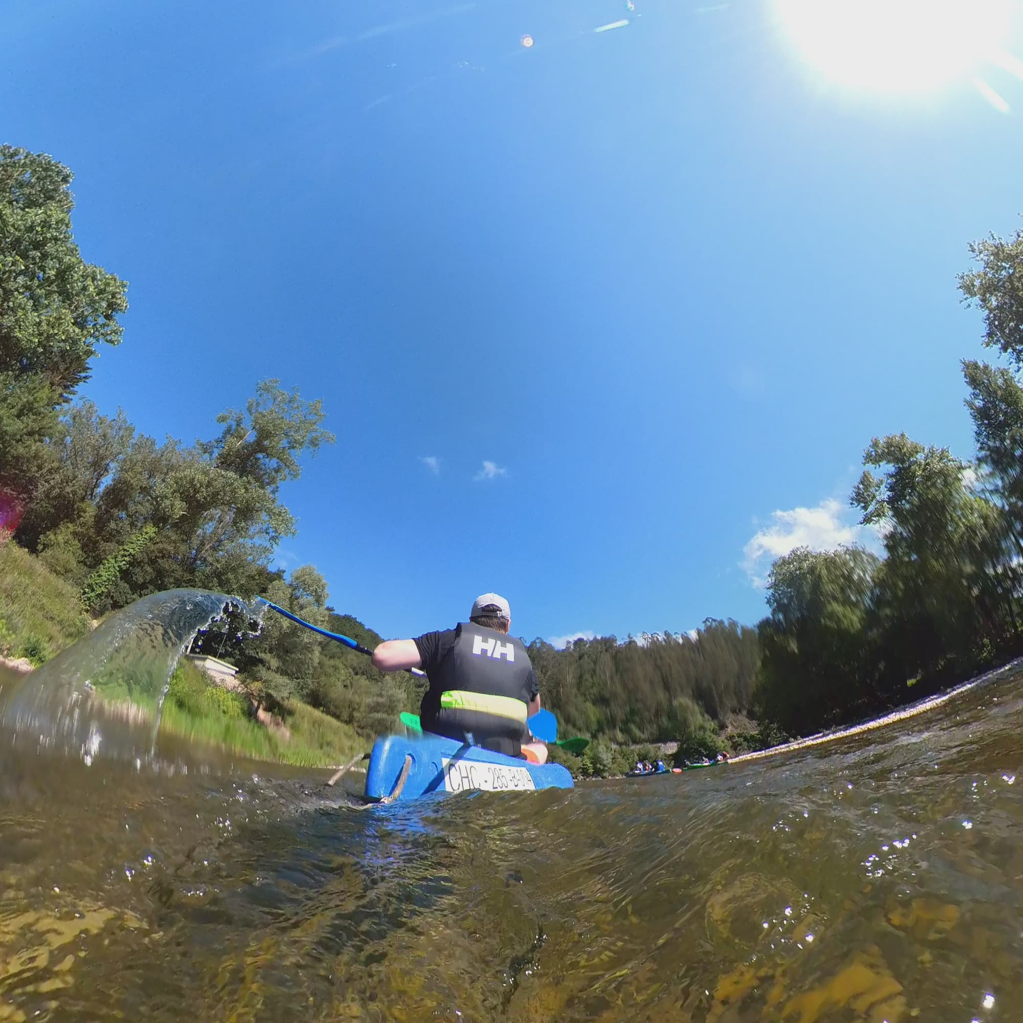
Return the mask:
<svg viewBox="0 0 1023 1023"><path fill-rule="evenodd" d="M924 697L1023 652L1023 233L970 247L965 302L1007 364L962 361L977 454L874 438L850 502L859 546L779 559L754 706L805 733Z"/></svg>

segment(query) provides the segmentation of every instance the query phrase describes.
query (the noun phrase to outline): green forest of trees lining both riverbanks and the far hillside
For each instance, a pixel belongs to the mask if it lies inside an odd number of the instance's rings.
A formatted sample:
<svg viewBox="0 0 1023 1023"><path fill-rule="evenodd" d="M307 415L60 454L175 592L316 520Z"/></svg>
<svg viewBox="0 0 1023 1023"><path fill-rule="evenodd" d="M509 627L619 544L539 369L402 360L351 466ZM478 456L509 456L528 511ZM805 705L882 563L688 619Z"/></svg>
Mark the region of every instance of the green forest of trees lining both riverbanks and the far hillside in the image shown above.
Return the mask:
<svg viewBox="0 0 1023 1023"><path fill-rule="evenodd" d="M92 617L202 587L266 595L372 647L381 637L331 608L313 566L272 567L296 530L280 487L333 440L319 401L264 381L206 438L160 442L80 396L99 351L124 340L127 283L82 256L71 182L52 158L0 146L0 531ZM707 619L695 637L529 643L563 735L597 741L592 769L615 745L681 741L698 755L725 731L736 748L837 725L1023 651L1023 234L970 255L959 288L995 356L962 363L976 456L871 439L850 503L877 528L878 552L780 558L756 626ZM248 627L230 621L197 644L237 664L262 700L305 701L367 738L416 708L410 676L385 678L276 616L239 639Z"/></svg>

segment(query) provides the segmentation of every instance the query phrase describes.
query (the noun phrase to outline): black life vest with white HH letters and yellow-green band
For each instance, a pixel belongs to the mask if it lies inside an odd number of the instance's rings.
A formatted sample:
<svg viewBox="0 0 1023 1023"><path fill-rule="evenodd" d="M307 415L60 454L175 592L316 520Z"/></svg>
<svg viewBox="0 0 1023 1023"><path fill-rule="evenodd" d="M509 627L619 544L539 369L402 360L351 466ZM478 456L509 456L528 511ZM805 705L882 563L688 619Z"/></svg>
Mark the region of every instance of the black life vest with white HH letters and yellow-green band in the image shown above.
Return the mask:
<svg viewBox="0 0 1023 1023"><path fill-rule="evenodd" d="M422 727L517 757L526 736L533 666L520 639L473 622L430 675Z"/></svg>

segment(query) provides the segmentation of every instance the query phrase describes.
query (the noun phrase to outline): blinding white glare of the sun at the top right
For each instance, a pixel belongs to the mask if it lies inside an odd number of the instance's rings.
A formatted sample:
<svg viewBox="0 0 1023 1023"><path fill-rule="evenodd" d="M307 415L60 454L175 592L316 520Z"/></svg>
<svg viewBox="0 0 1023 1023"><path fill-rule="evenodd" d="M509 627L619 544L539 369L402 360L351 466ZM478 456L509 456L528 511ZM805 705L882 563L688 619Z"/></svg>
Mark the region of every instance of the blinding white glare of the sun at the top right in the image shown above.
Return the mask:
<svg viewBox="0 0 1023 1023"><path fill-rule="evenodd" d="M850 88L933 89L999 52L1010 0L775 0L803 58Z"/></svg>

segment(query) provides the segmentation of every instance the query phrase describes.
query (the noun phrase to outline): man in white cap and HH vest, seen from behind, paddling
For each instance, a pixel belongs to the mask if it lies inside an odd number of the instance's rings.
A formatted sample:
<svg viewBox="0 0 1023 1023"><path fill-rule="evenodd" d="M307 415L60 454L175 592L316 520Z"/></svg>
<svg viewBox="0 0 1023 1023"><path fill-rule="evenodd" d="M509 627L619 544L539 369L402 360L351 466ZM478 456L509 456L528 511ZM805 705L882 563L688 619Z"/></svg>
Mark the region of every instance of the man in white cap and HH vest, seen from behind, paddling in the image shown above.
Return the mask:
<svg viewBox="0 0 1023 1023"><path fill-rule="evenodd" d="M425 731L536 763L547 748L526 719L540 709L540 686L520 639L508 635L511 609L503 596L478 596L469 621L414 639L388 639L373 651L381 671L421 668L430 680L419 707Z"/></svg>

